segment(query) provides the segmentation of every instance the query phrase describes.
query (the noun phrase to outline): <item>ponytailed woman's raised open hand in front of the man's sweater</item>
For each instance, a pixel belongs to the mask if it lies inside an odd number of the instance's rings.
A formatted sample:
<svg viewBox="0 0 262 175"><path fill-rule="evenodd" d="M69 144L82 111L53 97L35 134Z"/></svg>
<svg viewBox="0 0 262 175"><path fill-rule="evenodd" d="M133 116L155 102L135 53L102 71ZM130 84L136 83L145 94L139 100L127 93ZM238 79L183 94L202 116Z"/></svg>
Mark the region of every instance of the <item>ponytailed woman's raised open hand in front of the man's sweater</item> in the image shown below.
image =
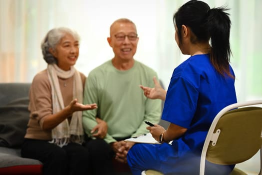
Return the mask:
<svg viewBox="0 0 262 175"><path fill-rule="evenodd" d="M163 89L163 87L160 85L160 83L157 81L156 76L153 77L153 81L155 84L155 87L147 87L143 85L139 85L140 88L144 90L144 95L150 99L166 99L166 90Z"/></svg>

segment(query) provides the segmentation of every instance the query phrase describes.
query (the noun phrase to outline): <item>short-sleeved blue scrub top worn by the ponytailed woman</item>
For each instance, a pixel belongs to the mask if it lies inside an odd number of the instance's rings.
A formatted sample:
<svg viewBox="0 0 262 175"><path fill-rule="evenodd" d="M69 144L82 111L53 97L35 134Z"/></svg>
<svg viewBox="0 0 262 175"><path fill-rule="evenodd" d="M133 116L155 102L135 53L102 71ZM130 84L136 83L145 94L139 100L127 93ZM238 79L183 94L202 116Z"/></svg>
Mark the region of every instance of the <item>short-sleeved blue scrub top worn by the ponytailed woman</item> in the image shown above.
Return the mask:
<svg viewBox="0 0 262 175"><path fill-rule="evenodd" d="M230 72L235 76L231 66ZM216 71L209 54L191 56L174 69L162 119L188 128L181 138L172 143L178 146L179 152L187 149L201 152L216 114L237 102L234 83L234 78Z"/></svg>

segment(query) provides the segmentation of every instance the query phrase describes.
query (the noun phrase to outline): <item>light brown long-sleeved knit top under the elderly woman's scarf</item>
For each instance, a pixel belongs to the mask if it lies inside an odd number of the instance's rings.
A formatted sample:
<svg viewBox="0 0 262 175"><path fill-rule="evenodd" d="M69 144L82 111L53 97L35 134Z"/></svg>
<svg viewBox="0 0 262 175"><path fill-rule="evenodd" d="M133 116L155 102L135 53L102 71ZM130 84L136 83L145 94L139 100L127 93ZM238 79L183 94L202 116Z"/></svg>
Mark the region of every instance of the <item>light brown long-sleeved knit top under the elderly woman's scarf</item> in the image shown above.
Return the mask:
<svg viewBox="0 0 262 175"><path fill-rule="evenodd" d="M80 72L85 84L85 75ZM68 105L73 98L73 76L68 79L58 77L59 85L64 101ZM52 114L51 85L47 76L47 69L37 73L29 90L29 121L27 124L25 138L51 140L51 130L42 130L45 116ZM70 117L68 118L70 121Z"/></svg>

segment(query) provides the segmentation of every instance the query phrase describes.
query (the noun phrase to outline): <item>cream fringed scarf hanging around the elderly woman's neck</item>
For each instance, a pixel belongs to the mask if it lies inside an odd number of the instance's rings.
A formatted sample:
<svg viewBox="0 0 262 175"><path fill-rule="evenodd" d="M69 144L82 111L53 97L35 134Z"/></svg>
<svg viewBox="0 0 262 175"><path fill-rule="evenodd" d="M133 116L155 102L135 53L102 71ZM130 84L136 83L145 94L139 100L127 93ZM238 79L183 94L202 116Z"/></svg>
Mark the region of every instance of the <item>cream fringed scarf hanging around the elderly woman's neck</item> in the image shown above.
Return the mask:
<svg viewBox="0 0 262 175"><path fill-rule="evenodd" d="M77 98L79 103L83 102L83 86L80 73L71 66L71 69L64 71L56 64L47 65L47 74L52 90L52 111L56 113L64 108L63 97L61 94L58 76L69 78L73 76L73 99ZM52 129L52 141L60 147L67 145L69 142L81 144L83 142L82 111L75 111L72 114L70 125L67 118Z"/></svg>

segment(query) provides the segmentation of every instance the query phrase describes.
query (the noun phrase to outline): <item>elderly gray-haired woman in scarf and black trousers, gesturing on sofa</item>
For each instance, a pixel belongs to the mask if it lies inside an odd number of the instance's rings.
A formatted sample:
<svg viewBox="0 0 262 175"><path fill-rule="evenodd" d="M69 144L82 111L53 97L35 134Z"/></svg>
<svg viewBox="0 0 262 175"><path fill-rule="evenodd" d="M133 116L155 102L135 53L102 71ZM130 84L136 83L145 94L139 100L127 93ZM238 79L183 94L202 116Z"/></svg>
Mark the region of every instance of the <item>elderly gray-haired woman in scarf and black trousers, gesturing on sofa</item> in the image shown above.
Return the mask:
<svg viewBox="0 0 262 175"><path fill-rule="evenodd" d="M47 68L37 73L29 92L30 117L21 155L43 163L43 174L89 174L82 104L85 75L74 68L79 36L64 27L53 28L41 43Z"/></svg>

